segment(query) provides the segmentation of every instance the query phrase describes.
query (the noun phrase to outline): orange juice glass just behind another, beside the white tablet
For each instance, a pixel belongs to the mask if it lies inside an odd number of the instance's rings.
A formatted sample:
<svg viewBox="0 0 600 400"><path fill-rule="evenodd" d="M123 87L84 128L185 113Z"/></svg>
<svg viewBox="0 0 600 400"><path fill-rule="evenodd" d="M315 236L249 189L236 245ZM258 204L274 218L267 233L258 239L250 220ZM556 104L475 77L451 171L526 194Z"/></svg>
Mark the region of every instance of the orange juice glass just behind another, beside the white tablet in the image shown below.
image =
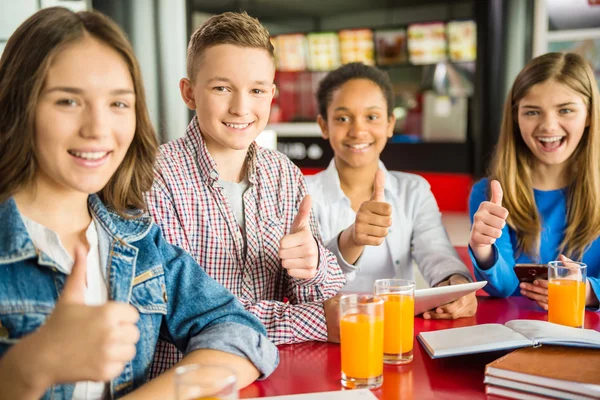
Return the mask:
<svg viewBox="0 0 600 400"><path fill-rule="evenodd" d="M375 295L383 299L383 362L408 364L413 359L415 282L378 279Z"/></svg>

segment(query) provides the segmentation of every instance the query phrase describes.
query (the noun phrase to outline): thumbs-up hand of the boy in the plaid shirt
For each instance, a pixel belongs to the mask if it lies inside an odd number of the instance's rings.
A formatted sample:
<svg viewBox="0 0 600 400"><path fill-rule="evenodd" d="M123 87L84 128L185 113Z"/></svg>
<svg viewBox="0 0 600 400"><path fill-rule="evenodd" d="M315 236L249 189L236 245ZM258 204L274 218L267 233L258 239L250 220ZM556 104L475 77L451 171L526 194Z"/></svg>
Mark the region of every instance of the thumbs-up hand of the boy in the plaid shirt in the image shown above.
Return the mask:
<svg viewBox="0 0 600 400"><path fill-rule="evenodd" d="M311 279L319 265L319 247L310 230L312 198L304 196L290 233L279 242L281 265L288 274L298 279Z"/></svg>

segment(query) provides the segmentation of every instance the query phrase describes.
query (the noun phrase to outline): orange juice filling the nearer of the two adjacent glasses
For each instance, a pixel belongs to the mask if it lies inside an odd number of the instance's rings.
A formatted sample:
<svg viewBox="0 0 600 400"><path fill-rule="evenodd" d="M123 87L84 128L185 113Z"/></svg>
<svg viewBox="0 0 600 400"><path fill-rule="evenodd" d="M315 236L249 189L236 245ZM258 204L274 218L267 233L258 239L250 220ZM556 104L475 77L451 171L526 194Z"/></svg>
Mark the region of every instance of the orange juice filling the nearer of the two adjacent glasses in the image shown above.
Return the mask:
<svg viewBox="0 0 600 400"><path fill-rule="evenodd" d="M347 314L340 325L342 372L354 379L380 376L383 373L383 318Z"/></svg>

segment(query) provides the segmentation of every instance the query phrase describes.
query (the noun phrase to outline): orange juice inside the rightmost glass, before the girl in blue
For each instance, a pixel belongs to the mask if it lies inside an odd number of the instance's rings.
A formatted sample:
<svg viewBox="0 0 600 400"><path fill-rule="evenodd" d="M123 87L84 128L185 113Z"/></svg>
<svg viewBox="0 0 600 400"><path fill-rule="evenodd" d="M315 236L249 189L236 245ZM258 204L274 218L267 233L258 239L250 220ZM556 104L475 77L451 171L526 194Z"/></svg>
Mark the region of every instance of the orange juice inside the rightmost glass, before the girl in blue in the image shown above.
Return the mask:
<svg viewBox="0 0 600 400"><path fill-rule="evenodd" d="M548 283L548 321L576 328L583 326L585 282L553 279Z"/></svg>

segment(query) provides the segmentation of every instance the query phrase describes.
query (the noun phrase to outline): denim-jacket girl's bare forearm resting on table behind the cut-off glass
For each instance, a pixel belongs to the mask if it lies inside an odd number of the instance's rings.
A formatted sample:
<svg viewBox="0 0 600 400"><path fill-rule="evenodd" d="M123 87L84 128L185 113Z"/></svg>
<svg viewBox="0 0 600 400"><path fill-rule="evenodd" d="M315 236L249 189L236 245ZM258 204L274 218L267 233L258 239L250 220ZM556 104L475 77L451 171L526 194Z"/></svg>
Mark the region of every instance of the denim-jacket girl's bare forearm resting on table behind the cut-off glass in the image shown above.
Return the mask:
<svg viewBox="0 0 600 400"><path fill-rule="evenodd" d="M175 368L189 364L222 365L231 369L236 375L238 389L248 386L259 376L259 371L254 365L243 357L218 350L199 349L192 351L173 368L123 399L175 399Z"/></svg>

